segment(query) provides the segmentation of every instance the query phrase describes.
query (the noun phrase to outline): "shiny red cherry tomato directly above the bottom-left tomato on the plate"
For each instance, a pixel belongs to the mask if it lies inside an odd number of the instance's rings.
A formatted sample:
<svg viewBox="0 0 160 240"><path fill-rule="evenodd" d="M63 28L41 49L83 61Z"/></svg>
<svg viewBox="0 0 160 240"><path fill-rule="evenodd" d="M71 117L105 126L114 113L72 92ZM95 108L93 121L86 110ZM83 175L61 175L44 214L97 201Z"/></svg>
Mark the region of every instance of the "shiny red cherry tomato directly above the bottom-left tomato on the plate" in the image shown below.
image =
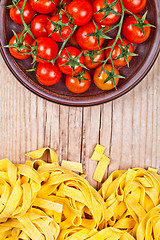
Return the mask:
<svg viewBox="0 0 160 240"><path fill-rule="evenodd" d="M38 57L45 58L47 60L52 60L58 54L58 45L51 38L39 37L33 42L32 45L33 46L37 45L37 57L36 57L37 62L46 63L45 60L40 59ZM32 55L32 57L34 57L34 55Z"/></svg>

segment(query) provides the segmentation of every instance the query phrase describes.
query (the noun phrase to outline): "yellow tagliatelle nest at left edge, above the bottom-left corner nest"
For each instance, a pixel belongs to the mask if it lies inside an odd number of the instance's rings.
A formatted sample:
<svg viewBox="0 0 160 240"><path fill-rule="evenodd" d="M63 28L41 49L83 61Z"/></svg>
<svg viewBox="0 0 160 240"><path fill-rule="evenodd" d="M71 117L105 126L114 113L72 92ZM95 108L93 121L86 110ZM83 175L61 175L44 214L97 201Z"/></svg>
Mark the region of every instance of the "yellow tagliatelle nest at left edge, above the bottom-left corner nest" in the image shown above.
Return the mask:
<svg viewBox="0 0 160 240"><path fill-rule="evenodd" d="M33 168L0 161L0 222L24 215L41 188L41 177Z"/></svg>

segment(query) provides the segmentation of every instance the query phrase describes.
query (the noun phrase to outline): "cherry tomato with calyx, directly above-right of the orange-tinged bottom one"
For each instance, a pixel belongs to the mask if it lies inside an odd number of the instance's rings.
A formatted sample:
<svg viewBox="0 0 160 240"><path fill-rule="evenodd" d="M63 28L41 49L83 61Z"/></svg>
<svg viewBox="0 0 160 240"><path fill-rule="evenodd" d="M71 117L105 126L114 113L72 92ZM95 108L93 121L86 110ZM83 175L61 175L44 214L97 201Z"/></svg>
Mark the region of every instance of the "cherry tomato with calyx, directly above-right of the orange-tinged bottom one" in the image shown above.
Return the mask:
<svg viewBox="0 0 160 240"><path fill-rule="evenodd" d="M129 41L126 40L126 39L122 39L122 40L123 40L123 42L124 42L124 44L125 44L126 47L127 47L128 44L129 44L128 52L129 52L129 53L133 53L132 44L129 43ZM113 43L114 43L114 39L113 39L113 40L110 40L109 43L107 44L107 47L112 46ZM112 56L112 59L117 58L117 57L120 56L120 54L122 53L120 47L118 46L118 44L121 45L121 46L123 47L123 49L125 50L123 43L121 42L120 39L118 39L118 41L117 41L117 43L116 43L116 45L114 46L113 51L112 51L112 55L111 55L111 56ZM105 52L106 58L109 56L110 51L111 51L111 49L109 49L109 48L106 49L106 52ZM132 59L132 56L127 55L127 58L128 58L128 62L130 62L131 59ZM111 62L111 59L109 59L108 62L109 62L109 63L112 63L112 62ZM121 58L119 58L119 59L117 59L117 60L113 60L113 63L114 63L115 66L118 66L118 67L122 67L122 66L127 65L127 62L126 62L126 60L125 60L124 57L121 57Z"/></svg>

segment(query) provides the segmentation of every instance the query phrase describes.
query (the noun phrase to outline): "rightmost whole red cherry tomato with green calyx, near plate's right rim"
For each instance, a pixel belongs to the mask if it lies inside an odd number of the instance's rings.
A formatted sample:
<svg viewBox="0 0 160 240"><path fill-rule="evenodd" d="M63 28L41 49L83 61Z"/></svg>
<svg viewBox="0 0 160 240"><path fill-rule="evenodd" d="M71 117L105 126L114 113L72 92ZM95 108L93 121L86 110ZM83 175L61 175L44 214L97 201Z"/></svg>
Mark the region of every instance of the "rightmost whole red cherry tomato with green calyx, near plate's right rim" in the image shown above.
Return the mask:
<svg viewBox="0 0 160 240"><path fill-rule="evenodd" d="M142 16L137 15L139 19L142 18ZM149 24L149 22L145 19L144 21L145 24ZM151 28L150 27L145 27L144 26L144 35L142 30L134 26L133 24L137 24L137 20L133 16L127 17L122 26L122 33L127 38L130 42L133 43L142 43L146 41L149 38Z"/></svg>

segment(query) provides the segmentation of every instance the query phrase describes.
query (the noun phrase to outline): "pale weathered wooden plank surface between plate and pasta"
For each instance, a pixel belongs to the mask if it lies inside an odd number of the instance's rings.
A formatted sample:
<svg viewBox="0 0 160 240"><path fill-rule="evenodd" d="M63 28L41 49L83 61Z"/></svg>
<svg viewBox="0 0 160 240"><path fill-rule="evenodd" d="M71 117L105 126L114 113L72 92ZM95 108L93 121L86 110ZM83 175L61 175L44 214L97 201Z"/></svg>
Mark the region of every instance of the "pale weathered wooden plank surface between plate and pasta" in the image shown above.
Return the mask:
<svg viewBox="0 0 160 240"><path fill-rule="evenodd" d="M96 143L111 158L108 173L160 165L160 56L125 96L87 108L60 106L25 89L0 56L0 159L24 162L26 152L50 146L59 159L81 161L92 180Z"/></svg>

